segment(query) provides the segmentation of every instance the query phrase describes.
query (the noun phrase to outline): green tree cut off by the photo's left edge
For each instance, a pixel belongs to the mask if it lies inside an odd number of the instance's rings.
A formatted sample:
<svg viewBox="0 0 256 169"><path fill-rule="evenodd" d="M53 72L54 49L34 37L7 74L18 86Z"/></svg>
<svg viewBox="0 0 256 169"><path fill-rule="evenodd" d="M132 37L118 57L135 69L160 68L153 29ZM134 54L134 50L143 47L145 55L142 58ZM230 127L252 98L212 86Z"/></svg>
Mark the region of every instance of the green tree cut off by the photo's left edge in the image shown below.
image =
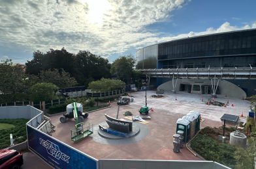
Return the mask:
<svg viewBox="0 0 256 169"><path fill-rule="evenodd" d="M18 99L18 94L23 93L26 88L25 80L24 71L19 66L13 65L12 60L7 59L0 63L0 92L2 95L8 96L5 101ZM3 101L1 100L1 102Z"/></svg>

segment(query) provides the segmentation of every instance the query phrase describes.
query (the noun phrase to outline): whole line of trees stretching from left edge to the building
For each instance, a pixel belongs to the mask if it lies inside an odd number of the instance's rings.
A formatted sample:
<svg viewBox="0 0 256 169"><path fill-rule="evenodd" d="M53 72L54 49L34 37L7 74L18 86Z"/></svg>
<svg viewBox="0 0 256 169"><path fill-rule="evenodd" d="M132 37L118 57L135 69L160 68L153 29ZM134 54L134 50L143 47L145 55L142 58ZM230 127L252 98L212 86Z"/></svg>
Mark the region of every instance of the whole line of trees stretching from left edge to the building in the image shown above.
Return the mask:
<svg viewBox="0 0 256 169"><path fill-rule="evenodd" d="M119 57L110 63L108 59L89 51L74 54L69 53L64 47L60 50L50 49L46 53L35 51L33 59L28 60L25 67L20 64L14 65L12 60L1 60L0 103L54 99L56 96L53 93L58 88L72 86L90 86L93 89L97 84L98 90L104 90L99 89L99 83L114 84L108 79L121 80L122 85L135 83L140 78L140 73L134 70L135 63L131 55ZM111 85L103 86L111 88Z"/></svg>

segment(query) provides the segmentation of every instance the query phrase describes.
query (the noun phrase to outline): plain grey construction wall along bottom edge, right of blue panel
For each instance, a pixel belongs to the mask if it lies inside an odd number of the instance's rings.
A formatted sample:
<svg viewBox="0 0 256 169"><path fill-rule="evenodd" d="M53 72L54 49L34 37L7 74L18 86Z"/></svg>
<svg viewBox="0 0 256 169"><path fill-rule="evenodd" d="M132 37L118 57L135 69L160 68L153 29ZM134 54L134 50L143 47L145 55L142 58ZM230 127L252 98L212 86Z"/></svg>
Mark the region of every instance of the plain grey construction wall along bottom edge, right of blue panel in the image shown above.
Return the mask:
<svg viewBox="0 0 256 169"><path fill-rule="evenodd" d="M207 168L227 169L214 161L141 161L141 160L99 160L99 169L176 169L176 168Z"/></svg>

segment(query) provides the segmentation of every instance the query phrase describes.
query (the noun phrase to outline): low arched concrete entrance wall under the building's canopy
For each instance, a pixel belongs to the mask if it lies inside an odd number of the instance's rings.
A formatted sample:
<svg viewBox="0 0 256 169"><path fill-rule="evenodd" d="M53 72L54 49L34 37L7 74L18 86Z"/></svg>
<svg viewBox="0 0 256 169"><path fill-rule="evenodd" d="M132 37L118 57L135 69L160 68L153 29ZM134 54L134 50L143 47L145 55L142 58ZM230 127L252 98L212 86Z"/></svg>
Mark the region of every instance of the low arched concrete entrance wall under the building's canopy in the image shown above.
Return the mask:
<svg viewBox="0 0 256 169"><path fill-rule="evenodd" d="M174 80L174 85L176 83L176 80ZM210 85L212 86L212 82L209 79L178 79L177 85L176 85L176 91L180 90L180 84L187 84L187 85ZM214 81L213 81L214 84ZM217 85L217 81L216 81ZM234 85L233 83L230 83L229 81L220 80L219 81L219 90L221 92L221 95L227 95L229 97L233 98L240 98L245 99L246 98L246 92L242 90L239 86ZM159 85L157 89L161 89L164 91L172 91L172 80L167 81L166 83L163 83L162 85ZM191 93L195 94L201 94L202 88L200 88L200 91L193 91L193 87L191 89Z"/></svg>

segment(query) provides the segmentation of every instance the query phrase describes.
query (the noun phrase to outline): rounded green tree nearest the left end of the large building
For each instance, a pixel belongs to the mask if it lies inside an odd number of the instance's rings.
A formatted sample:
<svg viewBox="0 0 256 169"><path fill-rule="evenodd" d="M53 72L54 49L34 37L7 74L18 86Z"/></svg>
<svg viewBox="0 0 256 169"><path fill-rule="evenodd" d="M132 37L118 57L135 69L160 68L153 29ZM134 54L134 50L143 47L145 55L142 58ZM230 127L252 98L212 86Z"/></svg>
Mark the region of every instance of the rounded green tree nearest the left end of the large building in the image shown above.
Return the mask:
<svg viewBox="0 0 256 169"><path fill-rule="evenodd" d="M133 77L133 68L135 67L135 59L129 55L116 59L111 66L110 73L121 81L129 84Z"/></svg>

